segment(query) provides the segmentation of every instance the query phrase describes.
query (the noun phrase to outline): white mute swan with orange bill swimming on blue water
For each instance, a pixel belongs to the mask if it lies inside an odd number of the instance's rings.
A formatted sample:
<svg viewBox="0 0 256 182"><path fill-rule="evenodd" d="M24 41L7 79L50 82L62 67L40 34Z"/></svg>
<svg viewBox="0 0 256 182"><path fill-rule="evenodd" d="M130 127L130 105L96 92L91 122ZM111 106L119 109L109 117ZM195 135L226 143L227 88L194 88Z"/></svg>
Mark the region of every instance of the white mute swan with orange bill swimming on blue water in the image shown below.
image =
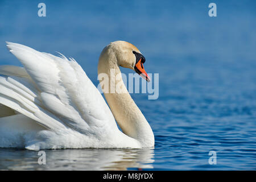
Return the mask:
<svg viewBox="0 0 256 182"><path fill-rule="evenodd" d="M101 93L74 59L53 56L7 42L24 68L0 67L0 147L56 148L153 147L154 134L123 84L119 66L149 77L133 44L116 41L101 52L98 74L115 77L120 92ZM102 83L101 83L102 84ZM123 133L118 129L121 127Z"/></svg>

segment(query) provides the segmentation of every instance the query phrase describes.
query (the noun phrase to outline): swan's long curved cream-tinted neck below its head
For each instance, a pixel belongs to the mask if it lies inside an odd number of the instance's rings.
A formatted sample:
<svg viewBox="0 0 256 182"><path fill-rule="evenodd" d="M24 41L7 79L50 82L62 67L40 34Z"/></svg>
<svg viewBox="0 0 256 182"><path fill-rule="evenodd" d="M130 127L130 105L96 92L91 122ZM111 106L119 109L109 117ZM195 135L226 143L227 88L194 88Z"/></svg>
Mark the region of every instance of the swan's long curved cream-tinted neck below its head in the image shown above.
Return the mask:
<svg viewBox="0 0 256 182"><path fill-rule="evenodd" d="M142 147L154 146L152 129L127 91L114 53L106 48L98 63L99 78L102 75L105 75L101 81L104 96L123 133L137 139Z"/></svg>

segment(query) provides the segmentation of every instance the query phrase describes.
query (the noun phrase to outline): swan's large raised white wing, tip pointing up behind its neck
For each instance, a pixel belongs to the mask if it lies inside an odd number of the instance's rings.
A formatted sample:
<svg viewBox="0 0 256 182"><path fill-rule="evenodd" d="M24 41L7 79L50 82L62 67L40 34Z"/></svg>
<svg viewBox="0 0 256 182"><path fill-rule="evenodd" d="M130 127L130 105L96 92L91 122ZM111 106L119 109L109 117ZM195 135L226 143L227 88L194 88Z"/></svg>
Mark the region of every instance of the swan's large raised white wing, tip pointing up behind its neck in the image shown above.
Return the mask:
<svg viewBox="0 0 256 182"><path fill-rule="evenodd" d="M20 107L20 113L26 113L24 115L48 129L59 130L66 127L98 137L99 133L117 129L113 114L101 93L74 59L68 60L63 55L53 56L16 43L7 42L7 47L20 60L24 69L5 67L0 69L0 73L20 76L22 81L27 79L31 85L35 84L36 91L32 100L19 100L22 106L15 105L19 98L16 96L17 92L13 91L12 99L2 94L5 96L2 102L8 103L5 105L11 108ZM14 78L13 76L5 80ZM26 88L30 90L33 86L26 85ZM6 94L9 92L5 91ZM35 102L35 98L39 98L39 101Z"/></svg>

